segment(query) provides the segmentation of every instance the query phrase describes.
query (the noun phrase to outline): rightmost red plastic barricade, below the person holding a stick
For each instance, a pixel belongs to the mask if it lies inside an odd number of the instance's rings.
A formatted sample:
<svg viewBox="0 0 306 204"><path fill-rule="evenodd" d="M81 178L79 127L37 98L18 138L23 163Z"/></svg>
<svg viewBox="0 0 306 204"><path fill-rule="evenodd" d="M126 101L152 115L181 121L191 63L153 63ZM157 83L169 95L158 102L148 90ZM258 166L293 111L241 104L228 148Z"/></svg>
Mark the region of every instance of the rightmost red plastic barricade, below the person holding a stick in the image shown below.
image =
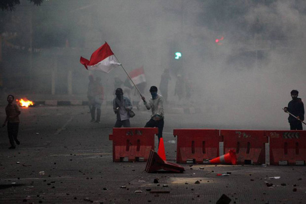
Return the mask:
<svg viewBox="0 0 306 204"><path fill-rule="evenodd" d="M270 164L305 165L306 131L266 131L270 138Z"/></svg>

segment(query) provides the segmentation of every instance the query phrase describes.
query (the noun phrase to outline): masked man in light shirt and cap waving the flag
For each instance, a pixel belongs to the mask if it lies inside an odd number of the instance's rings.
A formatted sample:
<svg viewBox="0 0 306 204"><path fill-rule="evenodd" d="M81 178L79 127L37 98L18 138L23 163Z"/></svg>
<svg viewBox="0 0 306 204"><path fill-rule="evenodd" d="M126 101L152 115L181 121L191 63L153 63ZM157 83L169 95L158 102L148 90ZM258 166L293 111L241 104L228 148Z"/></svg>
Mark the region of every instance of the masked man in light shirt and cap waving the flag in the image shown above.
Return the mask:
<svg viewBox="0 0 306 204"><path fill-rule="evenodd" d="M151 86L150 93L152 98L149 99L147 103L146 98L142 96L142 100L148 110L152 110L152 115L150 121L148 121L145 127L158 127L158 142L162 137L162 129L164 127L164 107L163 107L163 97L157 94L157 87Z"/></svg>

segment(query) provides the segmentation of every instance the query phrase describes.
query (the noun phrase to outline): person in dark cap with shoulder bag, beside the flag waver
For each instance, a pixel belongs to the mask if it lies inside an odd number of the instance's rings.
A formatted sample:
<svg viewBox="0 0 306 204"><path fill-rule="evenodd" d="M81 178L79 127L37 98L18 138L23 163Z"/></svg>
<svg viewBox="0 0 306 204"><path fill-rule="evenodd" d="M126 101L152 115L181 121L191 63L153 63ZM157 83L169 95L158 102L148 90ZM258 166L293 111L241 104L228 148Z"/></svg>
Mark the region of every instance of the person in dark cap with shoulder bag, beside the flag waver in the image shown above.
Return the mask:
<svg viewBox="0 0 306 204"><path fill-rule="evenodd" d="M117 120L114 127L131 127L130 116L128 112L133 109L129 98L123 96L122 88L115 90L116 97L113 100L113 109Z"/></svg>

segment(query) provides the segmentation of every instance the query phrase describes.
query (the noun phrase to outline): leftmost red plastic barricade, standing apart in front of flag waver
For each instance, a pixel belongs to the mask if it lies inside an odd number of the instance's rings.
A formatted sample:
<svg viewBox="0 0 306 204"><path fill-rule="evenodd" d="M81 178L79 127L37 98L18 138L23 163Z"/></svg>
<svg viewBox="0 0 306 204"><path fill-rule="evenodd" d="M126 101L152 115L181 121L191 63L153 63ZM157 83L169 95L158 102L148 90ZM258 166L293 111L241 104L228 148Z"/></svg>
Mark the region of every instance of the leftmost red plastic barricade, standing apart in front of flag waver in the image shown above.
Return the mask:
<svg viewBox="0 0 306 204"><path fill-rule="evenodd" d="M158 128L154 127L127 127L113 128L110 140L113 140L113 162L123 162L128 158L129 162L144 161L154 150L154 135Z"/></svg>

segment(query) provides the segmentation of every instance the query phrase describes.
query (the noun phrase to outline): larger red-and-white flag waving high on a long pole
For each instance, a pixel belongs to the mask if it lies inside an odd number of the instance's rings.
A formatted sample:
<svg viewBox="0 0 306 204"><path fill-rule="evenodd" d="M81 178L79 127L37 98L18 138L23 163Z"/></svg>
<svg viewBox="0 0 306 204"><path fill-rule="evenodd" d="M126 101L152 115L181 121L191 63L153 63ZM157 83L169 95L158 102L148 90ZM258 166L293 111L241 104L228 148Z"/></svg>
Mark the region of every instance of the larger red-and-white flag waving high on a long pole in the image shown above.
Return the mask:
<svg viewBox="0 0 306 204"><path fill-rule="evenodd" d="M90 60L81 57L79 61L87 70L106 73L121 65L107 42L92 53Z"/></svg>

